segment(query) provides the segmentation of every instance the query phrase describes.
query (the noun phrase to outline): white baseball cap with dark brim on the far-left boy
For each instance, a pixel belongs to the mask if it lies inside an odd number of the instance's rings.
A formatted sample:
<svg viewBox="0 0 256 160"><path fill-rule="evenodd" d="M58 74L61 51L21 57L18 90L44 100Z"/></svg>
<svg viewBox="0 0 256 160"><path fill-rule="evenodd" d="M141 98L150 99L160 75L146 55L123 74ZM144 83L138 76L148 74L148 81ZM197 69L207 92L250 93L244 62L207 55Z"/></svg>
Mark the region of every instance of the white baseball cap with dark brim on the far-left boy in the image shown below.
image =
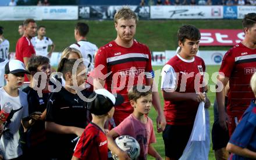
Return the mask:
<svg viewBox="0 0 256 160"><path fill-rule="evenodd" d="M20 60L10 60L5 64L5 74L16 74L22 72L25 74L30 74Z"/></svg>

